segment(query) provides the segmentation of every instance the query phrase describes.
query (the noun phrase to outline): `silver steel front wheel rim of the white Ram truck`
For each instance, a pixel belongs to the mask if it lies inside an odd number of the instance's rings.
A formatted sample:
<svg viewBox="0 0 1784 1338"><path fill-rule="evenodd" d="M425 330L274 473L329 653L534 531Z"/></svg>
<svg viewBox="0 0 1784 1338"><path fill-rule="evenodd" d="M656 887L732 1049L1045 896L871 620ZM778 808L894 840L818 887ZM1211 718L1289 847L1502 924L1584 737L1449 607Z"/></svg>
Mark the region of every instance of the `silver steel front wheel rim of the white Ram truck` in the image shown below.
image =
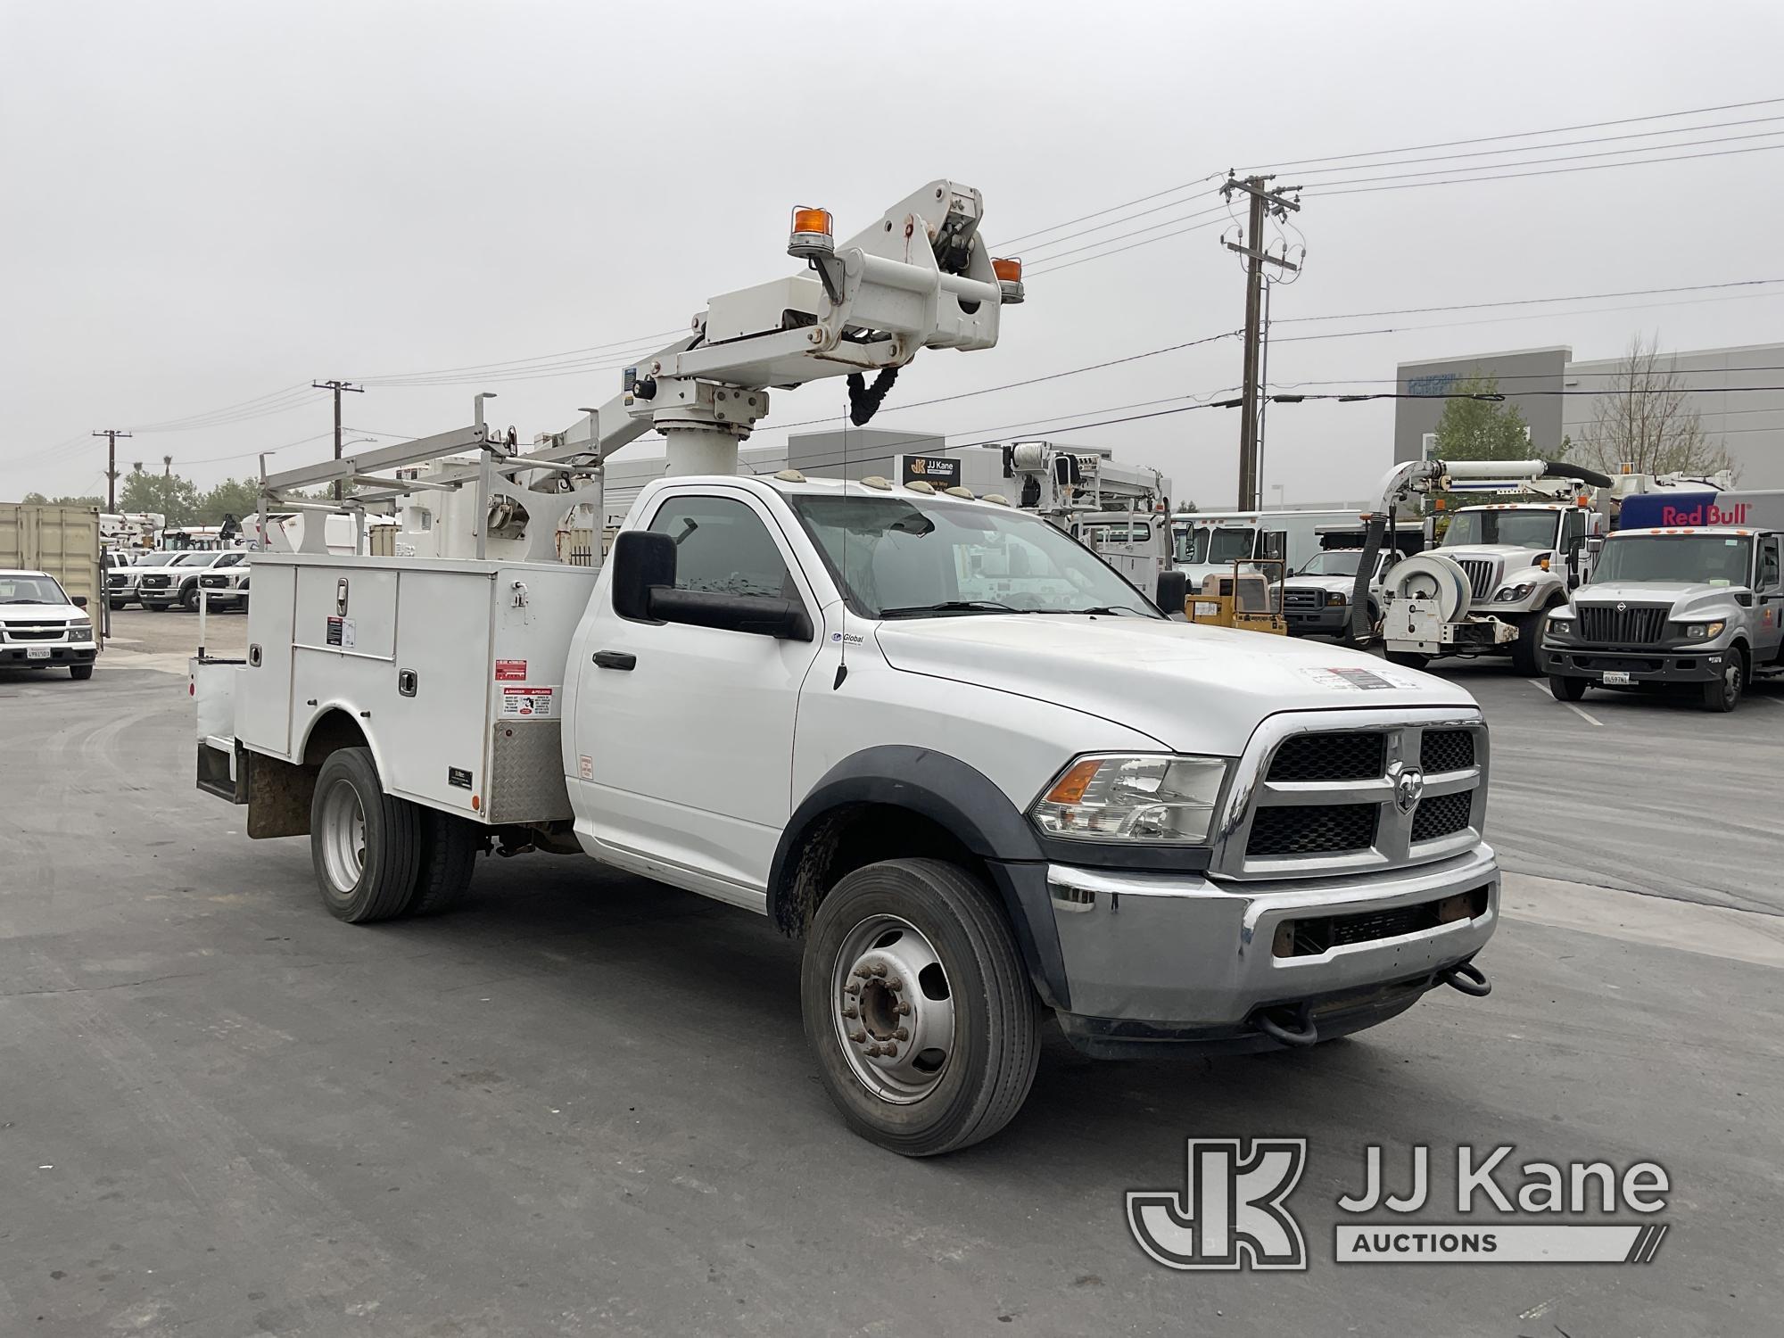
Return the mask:
<svg viewBox="0 0 1784 1338"><path fill-rule="evenodd" d="M910 921L869 915L844 935L830 1013L851 1072L881 1101L922 1101L947 1074L956 1045L953 981Z"/></svg>

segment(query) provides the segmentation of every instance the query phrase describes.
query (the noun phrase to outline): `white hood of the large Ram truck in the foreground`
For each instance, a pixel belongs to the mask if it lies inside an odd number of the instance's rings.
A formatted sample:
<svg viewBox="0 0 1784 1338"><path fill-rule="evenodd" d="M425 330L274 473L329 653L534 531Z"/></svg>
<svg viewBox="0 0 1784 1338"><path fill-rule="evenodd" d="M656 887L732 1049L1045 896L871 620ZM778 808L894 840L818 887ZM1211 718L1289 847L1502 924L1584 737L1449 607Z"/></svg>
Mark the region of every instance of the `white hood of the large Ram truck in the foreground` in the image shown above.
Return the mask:
<svg viewBox="0 0 1784 1338"><path fill-rule="evenodd" d="M926 617L874 637L894 669L1072 706L1183 753L1236 756L1283 710L1475 705L1361 651L1149 617Z"/></svg>

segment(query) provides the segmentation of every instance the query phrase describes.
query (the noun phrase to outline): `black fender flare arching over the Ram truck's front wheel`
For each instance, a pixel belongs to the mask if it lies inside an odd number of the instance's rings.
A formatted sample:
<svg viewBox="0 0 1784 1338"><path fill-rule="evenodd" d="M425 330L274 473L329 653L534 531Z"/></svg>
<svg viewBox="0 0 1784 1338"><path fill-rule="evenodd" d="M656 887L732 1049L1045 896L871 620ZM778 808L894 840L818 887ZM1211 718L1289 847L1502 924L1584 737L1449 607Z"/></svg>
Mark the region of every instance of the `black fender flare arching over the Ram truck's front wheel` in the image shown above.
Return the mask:
<svg viewBox="0 0 1784 1338"><path fill-rule="evenodd" d="M985 862L1015 928L1029 979L1051 1006L1069 1006L1065 958L1047 894L1047 853L1010 797L976 767L933 747L880 744L851 753L824 772L794 810L769 865L769 917L783 929L799 849L812 828L837 808L906 808L949 831Z"/></svg>

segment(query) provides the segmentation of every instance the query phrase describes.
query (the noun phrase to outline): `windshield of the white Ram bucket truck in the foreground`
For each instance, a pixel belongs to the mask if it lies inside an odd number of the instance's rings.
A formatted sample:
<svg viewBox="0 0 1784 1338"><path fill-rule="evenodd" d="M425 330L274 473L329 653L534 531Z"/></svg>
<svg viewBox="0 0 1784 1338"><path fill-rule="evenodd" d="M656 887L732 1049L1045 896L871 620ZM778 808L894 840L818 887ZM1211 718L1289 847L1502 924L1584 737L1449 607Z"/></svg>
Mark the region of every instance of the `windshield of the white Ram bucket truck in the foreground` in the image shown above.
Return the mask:
<svg viewBox="0 0 1784 1338"><path fill-rule="evenodd" d="M1101 558L1038 516L899 496L796 494L789 501L863 617L1160 615Z"/></svg>

